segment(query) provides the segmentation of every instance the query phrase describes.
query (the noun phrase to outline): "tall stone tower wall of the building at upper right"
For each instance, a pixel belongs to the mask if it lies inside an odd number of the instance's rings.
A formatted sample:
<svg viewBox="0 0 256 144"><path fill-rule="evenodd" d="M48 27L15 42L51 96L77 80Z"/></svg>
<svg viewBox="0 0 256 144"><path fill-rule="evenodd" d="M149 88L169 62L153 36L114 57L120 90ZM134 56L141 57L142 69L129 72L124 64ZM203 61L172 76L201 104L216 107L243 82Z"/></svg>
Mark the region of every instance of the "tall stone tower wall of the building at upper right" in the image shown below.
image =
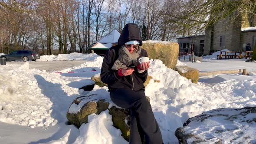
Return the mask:
<svg viewBox="0 0 256 144"><path fill-rule="evenodd" d="M213 26L206 28L204 54L222 49L242 51L243 43L251 43L251 46L253 47L253 36L256 36L255 32L241 32L241 28L249 26L248 16L243 14L242 17L237 17L235 20L231 17L232 16L228 16L223 20L219 20ZM253 18L253 25L256 25L256 16ZM211 34L212 32L213 35ZM220 46L220 36L222 36L222 38L225 37L222 46Z"/></svg>

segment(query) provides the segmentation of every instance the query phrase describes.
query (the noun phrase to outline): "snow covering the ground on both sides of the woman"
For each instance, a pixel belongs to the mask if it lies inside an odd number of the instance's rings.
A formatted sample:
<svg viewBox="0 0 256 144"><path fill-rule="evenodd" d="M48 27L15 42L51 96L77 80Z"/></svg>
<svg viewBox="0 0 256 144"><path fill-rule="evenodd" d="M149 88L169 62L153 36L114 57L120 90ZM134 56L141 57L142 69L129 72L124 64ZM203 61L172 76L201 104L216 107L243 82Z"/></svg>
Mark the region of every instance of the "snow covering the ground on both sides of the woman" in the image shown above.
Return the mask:
<svg viewBox="0 0 256 144"><path fill-rule="evenodd" d="M121 137L121 131L113 127L108 110L100 115L89 115L89 123L82 124L79 129L67 125L66 112L75 98L97 94L96 99L110 101L107 87L95 86L91 92L79 89L94 83L91 77L100 73L102 57L72 53L41 58L44 61L86 59L88 62L61 71L78 73L61 74L30 69L29 62L22 66L8 62L7 65L0 65L0 143L128 143ZM246 68L251 73L203 76L198 84L194 84L178 72L168 69L160 60L151 62L148 75L153 79L145 94L151 99L165 144L178 143L174 131L190 117L215 108L256 105L255 62L207 58L194 63L181 59L178 63L199 69L200 72ZM79 107L70 111L79 110Z"/></svg>

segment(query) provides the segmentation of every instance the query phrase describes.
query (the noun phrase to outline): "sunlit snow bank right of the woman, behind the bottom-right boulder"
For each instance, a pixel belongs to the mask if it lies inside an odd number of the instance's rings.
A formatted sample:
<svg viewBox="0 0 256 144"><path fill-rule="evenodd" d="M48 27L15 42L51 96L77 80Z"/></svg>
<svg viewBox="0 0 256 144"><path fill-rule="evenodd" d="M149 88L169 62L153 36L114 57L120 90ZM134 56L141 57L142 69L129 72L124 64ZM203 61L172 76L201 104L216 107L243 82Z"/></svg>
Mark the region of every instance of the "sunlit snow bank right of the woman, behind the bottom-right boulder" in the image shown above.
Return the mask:
<svg viewBox="0 0 256 144"><path fill-rule="evenodd" d="M216 85L197 84L168 69L160 60L154 60L148 75L151 80L146 95L151 99L152 109L164 142L177 143L174 131L190 117L215 108L244 107L256 105L256 80L227 80Z"/></svg>

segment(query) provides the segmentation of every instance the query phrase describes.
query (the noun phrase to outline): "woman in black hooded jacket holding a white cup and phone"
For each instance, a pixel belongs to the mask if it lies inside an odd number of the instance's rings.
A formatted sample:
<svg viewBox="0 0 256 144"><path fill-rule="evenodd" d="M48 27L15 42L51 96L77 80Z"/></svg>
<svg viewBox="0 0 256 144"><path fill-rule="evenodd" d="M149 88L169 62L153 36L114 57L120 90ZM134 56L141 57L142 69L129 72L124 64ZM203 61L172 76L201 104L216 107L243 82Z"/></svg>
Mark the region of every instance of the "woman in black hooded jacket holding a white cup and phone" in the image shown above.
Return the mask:
<svg viewBox="0 0 256 144"><path fill-rule="evenodd" d="M104 56L101 80L108 84L110 98L115 105L131 111L129 144L141 144L144 137L147 144L162 144L161 131L144 93L143 83L148 76L149 62L138 62L141 56L148 56L141 46L138 26L126 24L118 45L108 49ZM135 68L128 69L130 66Z"/></svg>

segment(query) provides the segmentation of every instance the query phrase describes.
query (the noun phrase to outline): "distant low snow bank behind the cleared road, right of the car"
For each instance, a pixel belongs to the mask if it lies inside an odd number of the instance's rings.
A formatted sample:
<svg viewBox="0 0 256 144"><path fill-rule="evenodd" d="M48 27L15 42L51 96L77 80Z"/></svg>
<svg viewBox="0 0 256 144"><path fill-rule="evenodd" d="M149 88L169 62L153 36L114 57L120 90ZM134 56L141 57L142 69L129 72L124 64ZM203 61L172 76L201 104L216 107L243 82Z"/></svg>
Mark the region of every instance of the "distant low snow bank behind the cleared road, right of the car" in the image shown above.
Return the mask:
<svg viewBox="0 0 256 144"><path fill-rule="evenodd" d="M40 56L37 61L59 61L59 60L95 60L98 56L96 53L84 54L84 53L70 53L70 54L59 54L58 56Z"/></svg>

